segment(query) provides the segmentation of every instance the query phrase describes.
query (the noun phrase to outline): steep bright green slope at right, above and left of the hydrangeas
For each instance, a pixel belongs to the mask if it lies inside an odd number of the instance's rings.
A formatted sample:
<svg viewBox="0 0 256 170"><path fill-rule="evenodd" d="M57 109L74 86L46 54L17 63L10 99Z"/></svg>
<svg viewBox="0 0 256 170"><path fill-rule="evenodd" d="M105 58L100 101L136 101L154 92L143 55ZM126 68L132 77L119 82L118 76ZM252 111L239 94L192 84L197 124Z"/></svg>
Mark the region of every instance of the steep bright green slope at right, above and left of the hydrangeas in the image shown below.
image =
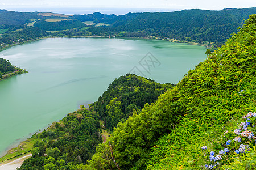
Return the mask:
<svg viewBox="0 0 256 170"><path fill-rule="evenodd" d="M200 147L209 133L256 109L255 32L256 15L251 15L239 33L189 70L173 90L118 124L109 141L121 169L203 168ZM90 166L115 168L111 159L105 143Z"/></svg>

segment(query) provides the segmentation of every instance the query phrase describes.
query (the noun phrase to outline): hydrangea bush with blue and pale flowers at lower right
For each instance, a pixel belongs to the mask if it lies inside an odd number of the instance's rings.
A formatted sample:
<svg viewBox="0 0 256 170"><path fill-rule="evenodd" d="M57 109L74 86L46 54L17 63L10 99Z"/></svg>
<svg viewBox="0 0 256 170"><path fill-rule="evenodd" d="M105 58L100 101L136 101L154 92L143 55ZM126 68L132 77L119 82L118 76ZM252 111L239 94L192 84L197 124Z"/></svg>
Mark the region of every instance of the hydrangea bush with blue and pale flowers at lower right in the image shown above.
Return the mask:
<svg viewBox="0 0 256 170"><path fill-rule="evenodd" d="M201 151L206 162L205 169L220 169L222 165L234 162L234 159L244 158L245 154L255 147L256 113L249 112L242 117L240 128L232 132L225 131L220 141L213 143L213 151L202 146Z"/></svg>

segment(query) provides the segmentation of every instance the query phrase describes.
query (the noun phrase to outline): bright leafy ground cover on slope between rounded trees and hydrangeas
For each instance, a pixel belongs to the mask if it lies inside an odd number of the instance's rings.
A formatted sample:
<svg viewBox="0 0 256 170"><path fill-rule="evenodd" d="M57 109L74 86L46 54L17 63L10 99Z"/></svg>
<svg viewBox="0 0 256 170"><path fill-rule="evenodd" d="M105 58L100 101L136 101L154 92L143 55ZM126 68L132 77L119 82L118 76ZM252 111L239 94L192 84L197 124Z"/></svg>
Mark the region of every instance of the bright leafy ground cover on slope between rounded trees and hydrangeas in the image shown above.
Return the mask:
<svg viewBox="0 0 256 170"><path fill-rule="evenodd" d="M226 131L232 127L230 119L237 120L255 110L255 61L247 59L255 56L255 18L256 15L251 15L237 35L183 79L185 91L190 92L185 96L191 95L186 116L172 133L156 142L157 149L151 148L148 169L159 169L166 164L170 164L167 169L181 165L199 168L202 163L199 143L209 146L205 140L208 139L216 150L220 149L216 141L223 136L217 129ZM196 87L201 87L200 91L195 91ZM191 130L187 128L189 121L195 124ZM213 136L209 136L210 131L215 131Z"/></svg>

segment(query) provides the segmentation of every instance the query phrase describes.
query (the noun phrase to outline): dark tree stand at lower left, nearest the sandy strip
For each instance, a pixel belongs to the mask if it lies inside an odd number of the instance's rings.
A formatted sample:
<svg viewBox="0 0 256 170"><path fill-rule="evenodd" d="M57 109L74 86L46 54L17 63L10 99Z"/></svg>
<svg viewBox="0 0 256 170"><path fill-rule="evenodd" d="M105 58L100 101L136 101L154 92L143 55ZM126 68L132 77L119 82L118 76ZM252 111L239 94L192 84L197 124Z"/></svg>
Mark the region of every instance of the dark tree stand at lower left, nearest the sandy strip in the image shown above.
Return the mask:
<svg viewBox="0 0 256 170"><path fill-rule="evenodd" d="M80 109L69 113L55 128L54 131L44 130L39 135L54 140L35 147L32 158L19 169L88 169L84 163L92 158L96 146L102 143L97 114Z"/></svg>

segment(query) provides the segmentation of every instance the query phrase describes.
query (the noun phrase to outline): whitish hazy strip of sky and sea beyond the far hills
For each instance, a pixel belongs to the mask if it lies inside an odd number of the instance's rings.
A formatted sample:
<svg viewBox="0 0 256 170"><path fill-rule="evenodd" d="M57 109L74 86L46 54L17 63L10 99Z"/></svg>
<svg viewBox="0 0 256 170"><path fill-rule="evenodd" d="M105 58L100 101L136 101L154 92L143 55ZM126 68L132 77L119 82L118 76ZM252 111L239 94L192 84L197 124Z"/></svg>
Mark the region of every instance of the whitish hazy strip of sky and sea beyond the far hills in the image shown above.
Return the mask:
<svg viewBox="0 0 256 170"><path fill-rule="evenodd" d="M174 10L194 9L199 8L203 10L222 10L223 8L249 8L256 7L255 0L216 0L216 1L205 1L205 0L1 0L0 8L6 10L14 10L21 12L65 12L66 14L72 12L73 14L83 13L87 14L92 10L82 10L83 8L92 8L94 11L99 9L104 12L104 8L113 9L105 10L105 14L114 14L114 9L127 9L133 8L131 12L168 12ZM154 10L155 9L155 10ZM100 12L101 12L100 11ZM121 12L122 13L122 12ZM120 15L121 15L120 13ZM64 14L64 13L63 13ZM118 14L117 14L118 15Z"/></svg>

